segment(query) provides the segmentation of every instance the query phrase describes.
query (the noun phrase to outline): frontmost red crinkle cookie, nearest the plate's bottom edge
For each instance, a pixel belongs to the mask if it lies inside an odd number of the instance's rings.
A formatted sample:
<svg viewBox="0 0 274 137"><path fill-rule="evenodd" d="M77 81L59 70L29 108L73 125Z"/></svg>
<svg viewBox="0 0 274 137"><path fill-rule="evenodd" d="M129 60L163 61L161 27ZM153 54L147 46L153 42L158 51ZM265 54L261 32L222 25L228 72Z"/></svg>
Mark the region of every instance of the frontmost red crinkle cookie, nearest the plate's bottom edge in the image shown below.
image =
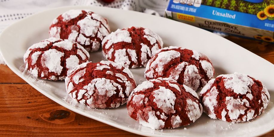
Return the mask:
<svg viewBox="0 0 274 137"><path fill-rule="evenodd" d="M189 125L203 113L197 93L171 78L138 85L127 101L128 115L152 129Z"/></svg>

